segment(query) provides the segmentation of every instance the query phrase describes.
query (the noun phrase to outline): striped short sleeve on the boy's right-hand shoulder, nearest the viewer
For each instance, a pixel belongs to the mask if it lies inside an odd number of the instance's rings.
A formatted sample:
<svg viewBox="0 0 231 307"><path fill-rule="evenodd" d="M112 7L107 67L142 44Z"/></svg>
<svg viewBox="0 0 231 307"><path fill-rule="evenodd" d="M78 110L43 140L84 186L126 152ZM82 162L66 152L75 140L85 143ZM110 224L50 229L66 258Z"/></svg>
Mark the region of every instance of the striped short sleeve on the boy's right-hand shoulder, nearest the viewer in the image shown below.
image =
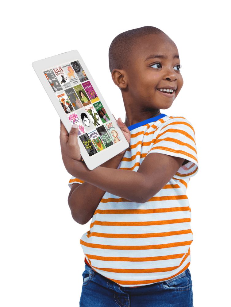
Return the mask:
<svg viewBox="0 0 231 307"><path fill-rule="evenodd" d="M185 117L176 116L162 122L152 134L149 153L164 153L189 162L174 175L176 179L192 178L199 171L195 129Z"/></svg>

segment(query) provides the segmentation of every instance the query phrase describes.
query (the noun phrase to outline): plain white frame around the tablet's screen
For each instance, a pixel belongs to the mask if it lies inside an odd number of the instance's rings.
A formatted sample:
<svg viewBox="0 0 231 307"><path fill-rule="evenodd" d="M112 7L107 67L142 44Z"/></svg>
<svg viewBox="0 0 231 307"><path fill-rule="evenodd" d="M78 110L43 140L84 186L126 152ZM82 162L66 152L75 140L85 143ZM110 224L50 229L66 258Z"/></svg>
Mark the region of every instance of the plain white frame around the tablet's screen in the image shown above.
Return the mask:
<svg viewBox="0 0 231 307"><path fill-rule="evenodd" d="M59 118L63 122L67 132L70 133L72 124L69 121L67 114L64 112L63 107L61 106L58 99L56 98L55 92L51 88L51 85L49 84L48 80L46 79L46 77L44 75L44 71L48 70L48 69L52 69L52 67L63 65L65 63L73 62L73 61L76 61L76 60L79 60L79 63L83 67L83 70L86 73L88 80L90 81L90 83L92 84L92 86L95 89L95 92L97 93L99 101L102 102L102 105L107 110L107 114L109 115L111 121L113 122L114 126L116 127L116 129L119 133L119 136L121 138L121 141L122 141L122 142L115 143L112 146L105 148L104 150L102 150L102 151L94 154L92 157L90 157L89 154L87 153L86 149L84 148L83 143L81 142L81 140L79 140L79 137L78 137L80 154L81 154L84 162L86 163L88 169L93 170L96 167L102 165L104 162L106 162L106 161L110 160L111 158L115 157L118 153L121 153L125 149L129 148L129 143L127 142L127 140L126 140L123 132L121 131L120 127L117 125L117 122L115 121L114 116L112 115L111 110L110 110L108 104L106 103L106 100L103 98L103 95L102 95L101 91L99 90L99 88L98 88L93 76L91 75L89 69L87 68L87 65L85 64L82 56L80 55L80 53L77 49L74 49L74 50L71 50L71 51L67 51L67 52L57 54L55 56L50 56L50 57L47 57L47 58L44 58L44 59L41 59L41 60L34 61L32 63L32 67L33 67L33 70L36 73L42 87L44 88L46 94L48 95L54 109L56 110L57 114L59 115ZM87 82L87 80L84 81L84 82ZM83 82L82 83L80 82L80 84L83 84ZM75 85L71 84L71 86L74 87ZM64 89L63 89L63 91L64 91ZM60 93L61 93L61 91L60 91ZM88 105L88 106L90 106L90 105ZM78 111L79 110L80 109L78 109ZM77 110L73 111L73 113L76 112L76 111ZM86 133L88 133L88 132L86 132ZM83 135L83 134L81 134L81 135Z"/></svg>

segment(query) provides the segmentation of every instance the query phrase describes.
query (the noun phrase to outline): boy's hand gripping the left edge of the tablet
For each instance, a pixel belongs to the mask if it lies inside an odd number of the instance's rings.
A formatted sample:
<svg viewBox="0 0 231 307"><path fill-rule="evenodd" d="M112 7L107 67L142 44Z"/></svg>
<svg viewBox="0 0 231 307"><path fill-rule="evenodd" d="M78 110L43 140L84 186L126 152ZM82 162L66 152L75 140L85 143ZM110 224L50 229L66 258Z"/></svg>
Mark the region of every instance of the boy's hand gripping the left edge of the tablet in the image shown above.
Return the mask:
<svg viewBox="0 0 231 307"><path fill-rule="evenodd" d="M76 129L72 126L70 134L68 134L64 124L60 120L60 149L67 173L71 171L74 163L78 163L82 160L78 144L78 131L79 128Z"/></svg>

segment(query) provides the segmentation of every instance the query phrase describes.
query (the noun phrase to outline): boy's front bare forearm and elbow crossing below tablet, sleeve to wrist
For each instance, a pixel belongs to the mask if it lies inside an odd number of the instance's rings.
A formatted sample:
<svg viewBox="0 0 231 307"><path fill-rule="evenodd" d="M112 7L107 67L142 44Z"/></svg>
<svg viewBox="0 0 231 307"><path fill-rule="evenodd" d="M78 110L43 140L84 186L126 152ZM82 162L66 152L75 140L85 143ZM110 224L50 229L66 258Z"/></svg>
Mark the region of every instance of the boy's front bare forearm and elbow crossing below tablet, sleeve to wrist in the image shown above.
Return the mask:
<svg viewBox="0 0 231 307"><path fill-rule="evenodd" d="M147 155L137 172L98 166L89 170L82 162L73 162L70 174L123 201L145 203L156 195L176 174L184 158L163 153Z"/></svg>

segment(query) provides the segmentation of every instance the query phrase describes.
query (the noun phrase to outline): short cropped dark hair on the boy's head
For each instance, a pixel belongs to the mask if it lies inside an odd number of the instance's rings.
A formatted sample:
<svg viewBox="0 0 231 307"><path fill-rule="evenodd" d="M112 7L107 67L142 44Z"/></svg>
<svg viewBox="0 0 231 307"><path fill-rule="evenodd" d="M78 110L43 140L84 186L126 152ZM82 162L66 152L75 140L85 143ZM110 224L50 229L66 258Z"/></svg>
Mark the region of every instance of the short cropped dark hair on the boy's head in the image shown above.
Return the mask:
<svg viewBox="0 0 231 307"><path fill-rule="evenodd" d="M113 69L125 69L129 66L129 58L137 38L148 34L160 34L164 31L151 25L131 29L118 34L111 42L108 49L108 62L110 74ZM120 89L121 90L121 89Z"/></svg>

